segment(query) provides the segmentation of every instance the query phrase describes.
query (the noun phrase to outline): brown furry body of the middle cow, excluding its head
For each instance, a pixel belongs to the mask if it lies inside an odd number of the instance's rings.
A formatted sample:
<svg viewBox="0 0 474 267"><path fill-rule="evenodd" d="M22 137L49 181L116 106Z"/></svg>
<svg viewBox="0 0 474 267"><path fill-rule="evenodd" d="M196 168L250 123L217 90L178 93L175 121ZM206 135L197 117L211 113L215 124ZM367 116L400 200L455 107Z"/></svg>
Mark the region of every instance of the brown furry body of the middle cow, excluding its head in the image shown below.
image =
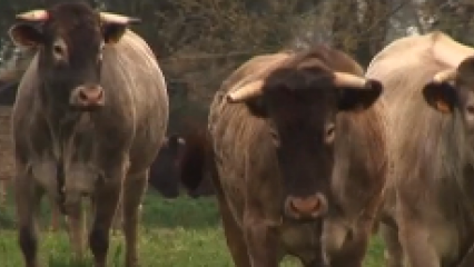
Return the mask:
<svg viewBox="0 0 474 267"><path fill-rule="evenodd" d="M330 70L363 75L349 57L325 47L257 56L224 81L210 106L213 147L207 158L213 161L209 167L227 245L238 267L277 266L285 255L316 267L323 263L322 251L333 267L362 266L385 181L382 107L375 103L366 111L337 115L329 212L323 220L292 221L282 215L287 188L267 121L253 116L245 103L230 105L224 98L237 83L261 77L275 79L274 71L314 61Z"/></svg>

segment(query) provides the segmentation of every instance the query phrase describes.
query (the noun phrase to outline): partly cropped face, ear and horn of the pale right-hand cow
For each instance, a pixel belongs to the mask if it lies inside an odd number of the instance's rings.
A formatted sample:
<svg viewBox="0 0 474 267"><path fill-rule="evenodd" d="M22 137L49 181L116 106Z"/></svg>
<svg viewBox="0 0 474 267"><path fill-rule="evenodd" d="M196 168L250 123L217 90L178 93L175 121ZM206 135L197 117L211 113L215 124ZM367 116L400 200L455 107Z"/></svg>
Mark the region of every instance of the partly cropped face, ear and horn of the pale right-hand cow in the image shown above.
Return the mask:
<svg viewBox="0 0 474 267"><path fill-rule="evenodd" d="M474 57L466 58L457 69L437 73L423 89L423 96L440 112L458 110L467 131L474 135Z"/></svg>

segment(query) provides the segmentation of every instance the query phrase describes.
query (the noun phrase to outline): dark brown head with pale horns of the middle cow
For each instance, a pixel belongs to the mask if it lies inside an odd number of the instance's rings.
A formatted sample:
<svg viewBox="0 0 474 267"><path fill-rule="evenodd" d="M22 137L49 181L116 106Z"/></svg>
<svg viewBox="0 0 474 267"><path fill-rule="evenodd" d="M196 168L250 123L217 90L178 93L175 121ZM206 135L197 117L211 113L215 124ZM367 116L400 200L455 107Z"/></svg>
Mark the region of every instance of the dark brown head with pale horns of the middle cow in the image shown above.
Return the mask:
<svg viewBox="0 0 474 267"><path fill-rule="evenodd" d="M286 189L286 216L317 218L327 211L335 142L344 135L336 117L367 109L382 89L378 81L333 71L323 60L295 57L227 95L227 101L244 102L267 121Z"/></svg>

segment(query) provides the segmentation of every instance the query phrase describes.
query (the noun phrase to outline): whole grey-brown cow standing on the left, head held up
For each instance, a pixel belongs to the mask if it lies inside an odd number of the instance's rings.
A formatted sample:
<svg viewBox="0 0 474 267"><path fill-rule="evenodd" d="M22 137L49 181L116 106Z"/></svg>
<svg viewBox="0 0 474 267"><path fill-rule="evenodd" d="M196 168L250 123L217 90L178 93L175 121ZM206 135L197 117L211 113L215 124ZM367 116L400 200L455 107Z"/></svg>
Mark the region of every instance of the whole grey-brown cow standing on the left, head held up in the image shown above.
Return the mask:
<svg viewBox="0 0 474 267"><path fill-rule="evenodd" d="M138 207L165 138L168 96L151 49L128 26L139 19L63 2L17 16L11 40L37 53L12 111L19 245L38 266L34 214L42 192L83 229L81 199L92 204L89 247L106 266L109 231L122 204L126 266L137 266ZM82 235L72 238L82 255Z"/></svg>

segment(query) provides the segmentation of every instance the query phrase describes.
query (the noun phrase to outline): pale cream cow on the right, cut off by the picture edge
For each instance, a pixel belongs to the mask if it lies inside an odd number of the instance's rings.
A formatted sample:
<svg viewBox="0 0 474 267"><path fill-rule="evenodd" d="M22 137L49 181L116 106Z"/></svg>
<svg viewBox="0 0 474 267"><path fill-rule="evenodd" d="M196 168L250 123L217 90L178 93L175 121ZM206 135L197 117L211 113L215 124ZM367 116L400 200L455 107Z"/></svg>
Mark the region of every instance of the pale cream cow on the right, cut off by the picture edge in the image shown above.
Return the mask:
<svg viewBox="0 0 474 267"><path fill-rule="evenodd" d="M443 32L395 40L367 77L386 92L387 266L474 266L474 49Z"/></svg>

